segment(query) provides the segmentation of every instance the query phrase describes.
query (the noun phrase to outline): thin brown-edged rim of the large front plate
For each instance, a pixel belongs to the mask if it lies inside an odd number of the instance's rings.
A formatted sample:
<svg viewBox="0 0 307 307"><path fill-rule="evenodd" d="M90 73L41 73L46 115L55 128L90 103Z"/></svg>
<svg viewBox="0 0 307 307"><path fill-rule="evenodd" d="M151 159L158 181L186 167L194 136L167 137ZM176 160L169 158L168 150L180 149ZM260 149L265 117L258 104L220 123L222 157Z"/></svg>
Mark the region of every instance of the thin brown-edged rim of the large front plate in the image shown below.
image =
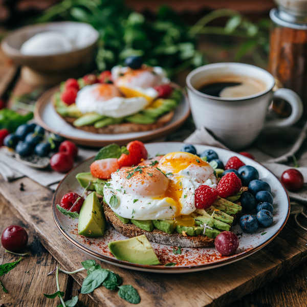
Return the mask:
<svg viewBox="0 0 307 307"><path fill-rule="evenodd" d="M150 145L152 144L163 144L163 143L182 143L182 144L185 144L183 142L153 142L153 143L150 143ZM218 150L222 149L222 150L225 150L225 151L229 151L229 152L233 152L235 155L238 155L238 156L242 156L240 155L239 153L235 152L235 151L232 151L232 150L229 150L229 149L224 149L224 148L220 148L220 147L216 147L216 146L211 146L211 145L204 145L204 144L192 144L192 145L203 145L203 146L210 146L212 148L218 148ZM102 261L105 261L109 264L112 264L112 265L115 265L115 266L119 266L119 267L123 267L123 268L126 268L126 269L130 269L130 270L137 270L137 271L146 271L146 272L155 272L155 273L188 273L188 272L195 272L195 271L202 271L202 270L208 270L208 269L213 269L213 268L217 268L217 267L221 267L221 266L225 266L225 265L228 265L228 264L231 264L233 262L236 262L238 260L241 260L241 259L244 259L254 253L256 253L257 251L259 251L260 249L264 248L265 246L267 246L269 243L272 242L272 240L274 238L276 238L276 236L281 232L281 230L283 229L283 227L286 225L286 223L288 222L288 218L290 216L290 209L291 209L291 205L290 205L290 199L289 199L289 195L288 195L288 192L286 190L286 188L284 187L284 185L282 184L282 182L275 176L274 173L272 173L267 167L265 167L264 165L262 165L261 163L255 161L255 160L252 160L248 157L245 157L245 158L248 158L254 162L256 162L257 164L261 165L262 167L264 167L265 169L268 170L268 172L274 176L278 182L280 183L281 187L283 188L284 192L286 192L286 195L287 195L287 199L288 199L288 213L287 213L287 216L286 216L286 219L284 220L283 224L280 226L280 228L278 229L278 231L271 237L269 238L268 240L266 240L264 243L262 243L261 245L255 247L255 248L252 248L246 252L242 252L242 253L239 253L239 254L235 254L233 255L233 257L231 258L228 258L228 259L222 259L222 260L219 260L219 261L215 261L215 262L211 262L209 264L202 264L202 265L196 265L196 266L187 266L187 267L165 267L165 266L157 266L157 267L154 267L154 266L149 266L149 265L139 265L139 264L134 264L132 262L128 262L128 261L122 261L122 260L118 260L116 258L111 258L111 257L107 257L107 256L104 256L104 255L101 255L93 250L90 250L89 248L87 247L84 247L82 246L81 244L79 244L76 240L74 240L73 238L71 238L67 233L64 232L64 230L61 228L60 226L60 223L59 221L57 220L57 217L56 217L56 214L55 214L55 208L56 208L56 204L55 204L55 196L61 186L61 184L63 183L63 181L68 177L70 176L70 173L72 171L74 171L77 167L79 167L81 164L93 159L95 156L93 157L90 157L90 158L87 158L86 160L80 162L78 165L76 165L74 168L72 168L66 175L65 177L59 182L56 190L54 191L53 193L53 197L52 197L52 215L53 215L53 219L54 219L54 222L56 224L56 226L58 227L58 229L60 230L60 232L65 236L65 238L67 238L72 244L74 244L75 246L77 246L79 249L81 249L83 252L85 252L86 254L90 254L91 256L95 257L95 258L98 258ZM242 156L243 157L243 156Z"/></svg>

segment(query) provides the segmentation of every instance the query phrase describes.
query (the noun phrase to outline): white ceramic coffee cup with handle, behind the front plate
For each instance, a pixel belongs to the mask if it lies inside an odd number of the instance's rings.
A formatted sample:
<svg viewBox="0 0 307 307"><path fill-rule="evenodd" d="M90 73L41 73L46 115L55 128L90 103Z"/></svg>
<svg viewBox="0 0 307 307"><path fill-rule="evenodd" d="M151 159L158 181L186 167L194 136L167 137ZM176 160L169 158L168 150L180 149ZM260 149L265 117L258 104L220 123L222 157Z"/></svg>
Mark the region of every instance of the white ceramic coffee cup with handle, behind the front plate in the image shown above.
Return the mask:
<svg viewBox="0 0 307 307"><path fill-rule="evenodd" d="M264 90L251 96L236 98L210 96L197 90L202 85L210 83L210 80L231 75L260 80ZM295 92L288 89L278 89L273 92L274 77L264 69L253 65L243 63L204 65L191 71L186 83L196 128L206 127L231 149L242 149L250 145L264 127L293 125L303 113L302 101ZM290 103L292 113L288 118L266 120L268 106L274 98L281 98Z"/></svg>

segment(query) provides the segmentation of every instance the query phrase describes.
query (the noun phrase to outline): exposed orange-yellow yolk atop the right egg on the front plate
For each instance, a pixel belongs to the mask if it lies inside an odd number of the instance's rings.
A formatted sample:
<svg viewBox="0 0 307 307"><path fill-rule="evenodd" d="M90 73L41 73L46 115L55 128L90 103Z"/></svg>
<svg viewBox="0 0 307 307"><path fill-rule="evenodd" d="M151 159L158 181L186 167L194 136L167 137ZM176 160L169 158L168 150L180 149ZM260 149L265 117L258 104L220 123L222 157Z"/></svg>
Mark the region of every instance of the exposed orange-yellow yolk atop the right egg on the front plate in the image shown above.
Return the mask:
<svg viewBox="0 0 307 307"><path fill-rule="evenodd" d="M158 167L165 172L179 173L189 165L208 166L208 162L189 152L171 152L165 155L159 162Z"/></svg>

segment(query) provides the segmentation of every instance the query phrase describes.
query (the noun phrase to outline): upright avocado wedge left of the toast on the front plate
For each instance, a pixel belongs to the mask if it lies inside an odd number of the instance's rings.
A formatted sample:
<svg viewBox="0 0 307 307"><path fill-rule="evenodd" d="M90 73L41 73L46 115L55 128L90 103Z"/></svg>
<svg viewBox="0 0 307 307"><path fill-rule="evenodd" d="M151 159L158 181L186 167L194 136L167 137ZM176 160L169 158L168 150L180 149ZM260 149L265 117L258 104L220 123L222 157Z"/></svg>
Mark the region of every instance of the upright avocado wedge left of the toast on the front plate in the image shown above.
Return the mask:
<svg viewBox="0 0 307 307"><path fill-rule="evenodd" d="M104 234L106 221L103 207L92 192L85 199L79 214L78 234L94 237Z"/></svg>

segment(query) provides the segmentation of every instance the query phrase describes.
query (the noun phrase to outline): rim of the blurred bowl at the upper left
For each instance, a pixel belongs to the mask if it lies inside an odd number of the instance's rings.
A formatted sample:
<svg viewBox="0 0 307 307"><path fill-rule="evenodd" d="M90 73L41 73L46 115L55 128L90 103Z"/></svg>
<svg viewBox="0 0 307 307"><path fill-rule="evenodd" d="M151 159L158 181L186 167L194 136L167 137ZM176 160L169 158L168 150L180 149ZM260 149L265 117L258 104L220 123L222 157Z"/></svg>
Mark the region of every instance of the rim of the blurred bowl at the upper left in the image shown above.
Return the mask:
<svg viewBox="0 0 307 307"><path fill-rule="evenodd" d="M94 38L91 40L91 42L89 44L87 44L86 46L82 47L82 48L76 48L73 49L71 51L67 51L67 52L60 52L60 53L54 53L54 54L44 54L44 55L28 55L28 54L23 54L20 52L20 49L16 49L12 46L9 45L9 39L13 36L16 35L20 32L24 32L29 29L35 29L35 28L41 28L44 29L46 27L48 27L49 25L61 25L63 27L67 26L67 25L72 25L72 24L76 24L76 25L80 25L81 27L87 27L89 29L91 29L91 31L95 34ZM41 31L43 32L43 31ZM40 32L38 32L40 33ZM6 36L2 39L1 42L1 48L2 50L6 53L7 56L14 56L14 57L23 57L23 58L28 58L28 59L34 59L34 58L47 58L47 57L53 57L53 56L60 56L60 55L70 55L76 52L79 52L81 50L85 50L89 47L92 47L93 45L95 45L95 43L97 42L99 38L99 32L90 24L86 24L86 23L81 23L78 21L52 21L51 23L41 23L41 24L36 24L36 25L29 25L29 26L25 26L25 27L21 27L18 28L16 30L12 30L9 31Z"/></svg>

